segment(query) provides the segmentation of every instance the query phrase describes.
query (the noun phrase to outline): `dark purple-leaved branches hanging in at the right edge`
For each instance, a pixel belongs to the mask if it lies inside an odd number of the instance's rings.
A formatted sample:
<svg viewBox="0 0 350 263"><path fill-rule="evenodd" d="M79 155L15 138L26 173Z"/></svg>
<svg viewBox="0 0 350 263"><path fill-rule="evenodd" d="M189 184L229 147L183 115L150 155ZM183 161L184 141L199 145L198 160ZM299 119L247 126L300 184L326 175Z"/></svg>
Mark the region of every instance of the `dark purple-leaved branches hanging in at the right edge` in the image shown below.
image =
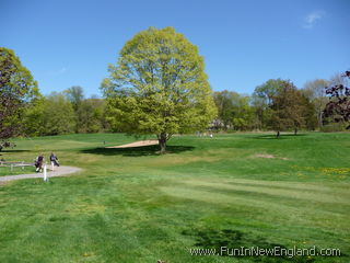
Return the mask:
<svg viewBox="0 0 350 263"><path fill-rule="evenodd" d="M350 87L348 81L350 79L350 71L341 75L341 79L332 81L334 85L326 89L326 94L329 101L324 111L324 117L331 117L336 123L347 125L350 129Z"/></svg>

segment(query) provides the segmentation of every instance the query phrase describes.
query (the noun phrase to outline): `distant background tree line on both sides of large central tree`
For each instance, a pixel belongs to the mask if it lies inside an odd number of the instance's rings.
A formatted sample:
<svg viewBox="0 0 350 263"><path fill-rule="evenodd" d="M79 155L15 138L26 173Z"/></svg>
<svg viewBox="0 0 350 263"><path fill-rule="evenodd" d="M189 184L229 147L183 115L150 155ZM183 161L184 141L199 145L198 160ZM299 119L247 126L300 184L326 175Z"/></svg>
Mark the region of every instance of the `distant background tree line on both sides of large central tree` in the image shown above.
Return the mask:
<svg viewBox="0 0 350 263"><path fill-rule="evenodd" d="M329 102L326 88L343 82L345 79L336 75L330 80L308 81L304 88L298 89L289 80L270 79L256 87L252 95L217 91L212 93L217 116L202 129L276 130L277 134L292 130L296 134L300 129L337 128L335 116L325 115ZM152 103L150 107L154 108ZM128 103L128 106L132 104ZM112 132L106 99L86 99L83 88L79 85L47 96L38 93L19 117L22 126L19 135L23 136ZM127 123L119 122L120 125Z"/></svg>

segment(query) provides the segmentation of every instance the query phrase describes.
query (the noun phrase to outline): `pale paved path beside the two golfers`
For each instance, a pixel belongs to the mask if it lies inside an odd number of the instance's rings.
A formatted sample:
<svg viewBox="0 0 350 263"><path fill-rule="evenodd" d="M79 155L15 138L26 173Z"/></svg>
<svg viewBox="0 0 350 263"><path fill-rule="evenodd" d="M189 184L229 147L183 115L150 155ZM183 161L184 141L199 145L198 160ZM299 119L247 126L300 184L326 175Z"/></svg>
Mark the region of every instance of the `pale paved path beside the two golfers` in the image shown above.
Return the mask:
<svg viewBox="0 0 350 263"><path fill-rule="evenodd" d="M48 170L47 178L67 176L68 174L77 173L80 171L81 169L75 167L58 167L58 168L55 168L55 171ZM44 178L44 174L30 173L30 174L5 175L5 176L0 176L0 183L13 181L13 180L33 179L33 178Z"/></svg>

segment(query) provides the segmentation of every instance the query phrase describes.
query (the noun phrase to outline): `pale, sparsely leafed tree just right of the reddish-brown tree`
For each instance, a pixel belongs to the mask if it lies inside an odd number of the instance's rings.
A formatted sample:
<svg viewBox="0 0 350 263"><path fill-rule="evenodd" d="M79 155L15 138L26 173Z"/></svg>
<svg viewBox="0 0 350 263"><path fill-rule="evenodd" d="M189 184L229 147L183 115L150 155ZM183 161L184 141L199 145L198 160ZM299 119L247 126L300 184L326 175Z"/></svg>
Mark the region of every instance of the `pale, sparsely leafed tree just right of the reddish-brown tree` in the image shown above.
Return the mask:
<svg viewBox="0 0 350 263"><path fill-rule="evenodd" d="M328 87L328 81L324 79L315 79L313 81L307 81L304 85L303 93L315 106L315 113L317 116L318 126L323 125L323 112L328 102L326 96L326 87Z"/></svg>

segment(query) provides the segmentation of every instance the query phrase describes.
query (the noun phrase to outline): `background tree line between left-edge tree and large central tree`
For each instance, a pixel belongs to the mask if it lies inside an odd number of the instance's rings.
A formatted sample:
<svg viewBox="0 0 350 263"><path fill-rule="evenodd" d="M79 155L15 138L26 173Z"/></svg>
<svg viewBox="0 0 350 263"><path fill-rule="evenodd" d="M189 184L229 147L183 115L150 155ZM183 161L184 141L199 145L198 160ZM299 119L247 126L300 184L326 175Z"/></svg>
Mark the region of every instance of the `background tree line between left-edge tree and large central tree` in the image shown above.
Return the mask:
<svg viewBox="0 0 350 263"><path fill-rule="evenodd" d="M71 87L47 96L37 95L22 113L23 136L102 133L108 130L105 100L85 99L83 89Z"/></svg>

